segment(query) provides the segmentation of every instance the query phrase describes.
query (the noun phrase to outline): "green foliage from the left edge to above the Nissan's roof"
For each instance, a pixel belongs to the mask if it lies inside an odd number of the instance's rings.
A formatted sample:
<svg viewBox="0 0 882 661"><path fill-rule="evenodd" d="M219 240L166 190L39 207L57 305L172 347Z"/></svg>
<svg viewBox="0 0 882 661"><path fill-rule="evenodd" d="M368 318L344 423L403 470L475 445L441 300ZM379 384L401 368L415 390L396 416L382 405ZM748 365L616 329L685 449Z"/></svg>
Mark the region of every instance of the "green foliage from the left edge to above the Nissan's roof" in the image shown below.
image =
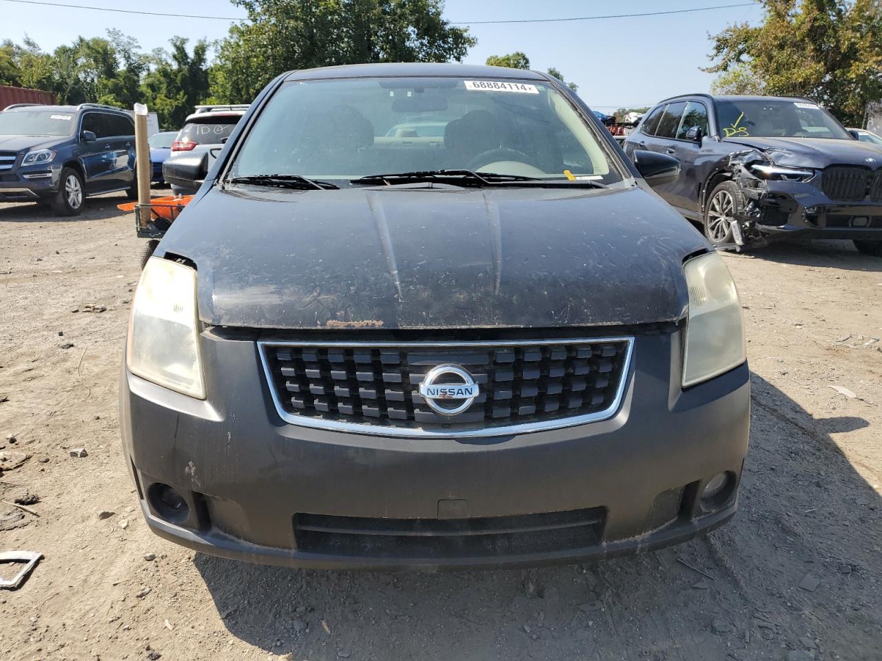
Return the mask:
<svg viewBox="0 0 882 661"><path fill-rule="evenodd" d="M250 102L283 71L332 64L461 61L475 39L442 18L443 0L233 0L249 20L230 28L217 59L172 37L168 49L140 51L108 30L52 53L30 38L0 43L0 85L56 93L58 103L143 102L160 126L177 129L199 103ZM526 56L525 56L526 57Z"/></svg>

